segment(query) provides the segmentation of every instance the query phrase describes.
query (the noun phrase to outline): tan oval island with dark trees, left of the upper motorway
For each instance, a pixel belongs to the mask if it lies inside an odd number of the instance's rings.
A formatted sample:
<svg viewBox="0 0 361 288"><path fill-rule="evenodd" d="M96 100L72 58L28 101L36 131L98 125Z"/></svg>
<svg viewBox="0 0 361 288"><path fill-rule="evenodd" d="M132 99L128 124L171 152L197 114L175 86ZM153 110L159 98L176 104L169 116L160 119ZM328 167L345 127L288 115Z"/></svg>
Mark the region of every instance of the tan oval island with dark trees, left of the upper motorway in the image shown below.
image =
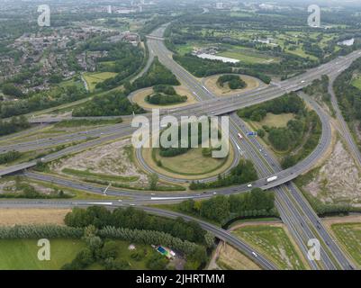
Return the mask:
<svg viewBox="0 0 361 288"><path fill-rule="evenodd" d="M143 109L172 109L196 103L194 95L182 85L155 85L140 89L132 94L131 101Z"/></svg>

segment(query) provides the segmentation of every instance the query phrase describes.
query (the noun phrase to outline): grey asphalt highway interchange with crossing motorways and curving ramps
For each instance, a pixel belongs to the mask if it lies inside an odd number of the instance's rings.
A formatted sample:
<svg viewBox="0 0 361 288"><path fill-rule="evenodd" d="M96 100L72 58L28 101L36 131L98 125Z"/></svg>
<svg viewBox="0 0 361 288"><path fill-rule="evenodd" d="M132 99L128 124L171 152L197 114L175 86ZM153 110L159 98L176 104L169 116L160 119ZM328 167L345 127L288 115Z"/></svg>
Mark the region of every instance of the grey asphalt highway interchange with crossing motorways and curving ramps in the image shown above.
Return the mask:
<svg viewBox="0 0 361 288"><path fill-rule="evenodd" d="M293 79L286 80L280 83L274 83L273 85L261 88L257 91L250 91L245 94L241 94L239 97L238 94L230 95L226 97L216 98L211 91L209 91L205 86L202 85L197 79L189 74L183 67L180 67L176 62L171 58L171 52L167 50L164 46L162 35L167 26L163 26L157 31L153 32L148 39L149 46L149 56L153 58L154 55L158 56L161 63L166 67L170 68L172 72L177 76L177 78L186 85L190 91L198 98L199 103L189 105L185 108L179 108L172 110L171 113L176 116L186 116L186 115L196 115L201 116L204 113L207 115L223 115L225 113L230 113L230 136L231 136L231 146L236 151L237 159L239 159L239 154L237 153L237 148L241 148L241 154L243 157L251 159L255 166L257 167L258 175L260 180L257 180L252 185L254 187L261 187L262 189L271 189L275 188L276 196L276 206L278 211L280 211L281 218L284 223L287 225L293 234L297 244L301 248L303 254L307 254L307 241L310 238L319 238L321 243L321 261L316 263L315 261L310 261L309 264L311 268L314 269L351 269L352 265L350 264L347 257L344 256L340 248L337 246L335 241L329 236L329 233L322 226L319 218L312 211L311 206L303 198L302 193L292 184L292 180L301 175L302 173L308 171L311 166L313 166L322 155L325 153L329 147L330 142L330 127L329 127L329 118L328 116L321 111L320 106L317 103L312 102L310 99L306 99L315 111L319 114L320 120L322 122L322 136L318 147L311 153L309 157L304 159L301 163L293 166L292 168L282 171L278 162L272 157L272 154L262 147L262 145L257 141L256 138L246 138L246 140L241 141L236 135L237 133L242 133L246 135L248 132L247 125L239 119L239 117L234 113L239 108L243 108L255 103L262 103L266 100L274 99L279 97L286 92L298 91L303 86L311 84L311 81L315 78L320 77L321 75L329 75L332 79L346 69L352 61L360 57L361 52L356 51L350 55L347 55L343 58L335 59L327 64L322 65L311 69L302 76L294 77ZM148 66L149 67L149 66ZM335 68L336 67L336 68ZM337 105L337 103L336 103ZM165 110L164 113L169 111ZM342 117L341 117L342 118ZM60 121L56 119L55 121ZM50 119L42 119L41 122L47 122ZM52 119L54 121L54 119ZM96 128L92 130L80 131L77 133L71 133L68 135L60 135L58 137L41 139L41 141L29 141L29 142L19 142L14 144L2 144L0 139L0 150L2 152L8 150L19 150L19 151L29 151L35 150L38 148L47 148L53 147L55 145L60 145L64 143L73 143L75 141L86 140L89 138L89 141L76 144L60 150L56 153L52 153L44 157L44 162L50 162L59 157L63 157L69 154L76 153L78 151L84 150L86 148L95 147L111 141L113 139L120 139L131 136L131 133L134 131L134 128L130 127L128 121L124 121L121 124L116 124L112 126ZM349 139L351 143L354 143L352 139ZM355 144L354 144L355 145ZM358 152L358 149L356 149ZM358 152L359 153L359 152ZM138 152L137 156L141 163L141 155ZM233 166L238 161L233 162ZM20 172L24 169L30 168L36 165L36 161L31 161L29 163L23 163L17 166L6 167L5 169L0 170L0 175L8 175L14 172ZM143 163L144 165L144 163ZM146 170L149 170L149 166L144 166ZM149 172L151 172L149 170ZM44 182L51 182L54 184L59 184L62 186L68 186L80 190L86 190L92 193L103 193L104 187L77 183L72 180L50 176L50 175L41 175L32 172L25 172L24 175L32 179L41 180ZM270 175L277 175L278 178L272 184L266 183L266 178ZM164 177L164 176L161 176ZM179 181L178 179L165 179L172 181ZM212 180L212 179L205 179ZM119 196L119 201L87 201L87 202L64 202L64 201L52 201L52 202L42 202L42 201L21 201L21 202L11 202L5 201L0 202L0 207L74 207L74 206L88 206L92 204L105 205L107 207L117 207L117 206L128 206L128 205L147 205L152 203L167 203L167 202L179 202L184 199L194 198L194 199L206 199L212 197L214 194L230 194L230 193L241 193L248 191L248 185L243 184L235 187L228 187L217 189L214 191L207 191L204 193L161 193L157 195L152 195L144 192L130 192L122 191L120 189L109 189L107 194ZM122 197L125 197L124 200L121 200ZM128 199L129 198L129 199ZM152 209L149 207L141 207L149 212L158 213L167 217L176 217L181 216L186 220L190 220L188 216L178 215L170 211L160 211L157 209ZM237 238L232 237L228 232L223 229L214 227L206 222L197 220L203 226L204 229L212 231L212 233L217 237L223 240L228 241L234 247L239 248L242 252L248 255L248 257L254 259L260 266L266 269L275 269L275 266L266 259L266 257L257 253L255 256L252 252L253 250L248 247L245 243L240 241Z"/></svg>

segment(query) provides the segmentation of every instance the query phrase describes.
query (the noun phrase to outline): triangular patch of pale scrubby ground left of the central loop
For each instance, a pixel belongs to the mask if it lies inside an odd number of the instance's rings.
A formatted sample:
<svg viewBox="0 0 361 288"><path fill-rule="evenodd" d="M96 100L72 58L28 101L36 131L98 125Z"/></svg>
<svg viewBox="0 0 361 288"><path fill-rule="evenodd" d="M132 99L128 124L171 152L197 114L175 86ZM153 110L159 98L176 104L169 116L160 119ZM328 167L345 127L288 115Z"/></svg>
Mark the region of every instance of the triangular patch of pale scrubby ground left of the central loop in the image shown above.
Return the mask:
<svg viewBox="0 0 361 288"><path fill-rule="evenodd" d="M158 178L154 179L152 175L141 171L135 159L131 139L127 138L88 148L70 156L61 157L48 164L38 163L34 169L38 173L45 175L71 179L95 186L106 187L110 184L112 189L119 189L119 191L124 189L158 192L185 190L184 186L158 181ZM11 183L7 184L7 186L9 185ZM1 182L0 187L2 187ZM96 193L89 194L90 197L91 195L99 196ZM62 197L65 196L68 196L68 193L62 195ZM0 193L1 197L2 193ZM50 197L50 195L47 195L47 197Z"/></svg>

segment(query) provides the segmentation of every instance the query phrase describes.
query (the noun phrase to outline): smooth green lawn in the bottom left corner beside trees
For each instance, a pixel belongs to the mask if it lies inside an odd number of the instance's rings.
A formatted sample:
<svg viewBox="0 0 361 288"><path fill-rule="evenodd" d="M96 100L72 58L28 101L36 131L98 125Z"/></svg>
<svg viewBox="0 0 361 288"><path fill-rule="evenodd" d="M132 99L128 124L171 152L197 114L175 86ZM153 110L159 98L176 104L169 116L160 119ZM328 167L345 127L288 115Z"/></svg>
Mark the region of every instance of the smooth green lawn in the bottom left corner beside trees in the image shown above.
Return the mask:
<svg viewBox="0 0 361 288"><path fill-rule="evenodd" d="M50 261L40 261L37 243L38 239L0 240L0 270L58 270L85 247L80 240L52 239Z"/></svg>

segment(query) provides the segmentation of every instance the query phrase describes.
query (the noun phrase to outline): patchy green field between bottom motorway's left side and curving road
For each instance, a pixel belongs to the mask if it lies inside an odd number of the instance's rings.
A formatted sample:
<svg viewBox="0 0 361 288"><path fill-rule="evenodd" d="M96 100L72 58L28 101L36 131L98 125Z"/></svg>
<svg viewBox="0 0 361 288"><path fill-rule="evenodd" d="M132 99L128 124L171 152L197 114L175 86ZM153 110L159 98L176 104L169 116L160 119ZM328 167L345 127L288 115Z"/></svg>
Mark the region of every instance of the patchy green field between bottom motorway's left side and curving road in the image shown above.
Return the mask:
<svg viewBox="0 0 361 288"><path fill-rule="evenodd" d="M280 269L305 269L300 255L281 227L251 225L236 229L232 233L255 247Z"/></svg>

